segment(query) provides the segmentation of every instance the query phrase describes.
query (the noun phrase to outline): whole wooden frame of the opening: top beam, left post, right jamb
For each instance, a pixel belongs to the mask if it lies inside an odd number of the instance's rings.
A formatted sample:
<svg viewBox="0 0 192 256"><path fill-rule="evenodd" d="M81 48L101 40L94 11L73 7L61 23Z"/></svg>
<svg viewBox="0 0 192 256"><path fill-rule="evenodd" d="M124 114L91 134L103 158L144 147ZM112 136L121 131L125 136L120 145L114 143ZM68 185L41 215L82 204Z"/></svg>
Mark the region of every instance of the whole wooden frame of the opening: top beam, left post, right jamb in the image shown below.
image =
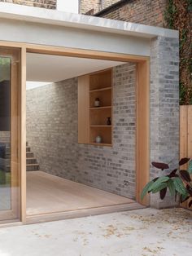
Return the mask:
<svg viewBox="0 0 192 256"><path fill-rule="evenodd" d="M136 201L149 205L149 196L141 201L143 186L150 179L150 57L104 51L91 51L60 46L35 45L20 42L2 42L0 46L21 49L20 87L20 168L21 168L21 221L26 223L26 54L63 55L95 60L115 60L137 63L136 85Z"/></svg>

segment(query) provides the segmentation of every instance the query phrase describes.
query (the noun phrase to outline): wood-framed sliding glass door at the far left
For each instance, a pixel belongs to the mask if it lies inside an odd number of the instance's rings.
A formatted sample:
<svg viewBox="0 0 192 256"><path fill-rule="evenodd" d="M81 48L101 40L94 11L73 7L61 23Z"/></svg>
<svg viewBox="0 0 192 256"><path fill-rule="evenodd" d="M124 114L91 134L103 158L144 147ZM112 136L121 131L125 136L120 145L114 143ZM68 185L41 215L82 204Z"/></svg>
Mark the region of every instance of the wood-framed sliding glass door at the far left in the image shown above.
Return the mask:
<svg viewBox="0 0 192 256"><path fill-rule="evenodd" d="M0 47L0 223L20 219L20 49Z"/></svg>

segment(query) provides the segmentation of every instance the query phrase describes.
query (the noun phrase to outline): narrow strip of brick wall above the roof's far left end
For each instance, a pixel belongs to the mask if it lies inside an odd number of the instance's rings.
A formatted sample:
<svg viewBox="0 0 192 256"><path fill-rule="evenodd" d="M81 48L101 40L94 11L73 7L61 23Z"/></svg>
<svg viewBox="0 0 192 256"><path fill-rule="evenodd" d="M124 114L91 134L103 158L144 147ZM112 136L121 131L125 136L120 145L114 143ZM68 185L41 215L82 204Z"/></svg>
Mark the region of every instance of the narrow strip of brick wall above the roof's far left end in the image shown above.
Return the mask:
<svg viewBox="0 0 192 256"><path fill-rule="evenodd" d="M0 2L11 2L29 7L56 9L57 0L0 0Z"/></svg>

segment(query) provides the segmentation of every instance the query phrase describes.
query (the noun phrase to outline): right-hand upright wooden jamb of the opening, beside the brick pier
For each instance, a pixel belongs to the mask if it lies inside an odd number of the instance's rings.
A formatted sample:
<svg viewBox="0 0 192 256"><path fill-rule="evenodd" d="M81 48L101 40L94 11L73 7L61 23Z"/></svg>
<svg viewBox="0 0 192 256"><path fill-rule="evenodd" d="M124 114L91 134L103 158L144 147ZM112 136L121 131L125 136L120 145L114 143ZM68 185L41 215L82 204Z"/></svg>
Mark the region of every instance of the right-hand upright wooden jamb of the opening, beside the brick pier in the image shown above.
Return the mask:
<svg viewBox="0 0 192 256"><path fill-rule="evenodd" d="M150 61L137 63L136 82L136 201L150 205L149 194L141 200L150 181Z"/></svg>

